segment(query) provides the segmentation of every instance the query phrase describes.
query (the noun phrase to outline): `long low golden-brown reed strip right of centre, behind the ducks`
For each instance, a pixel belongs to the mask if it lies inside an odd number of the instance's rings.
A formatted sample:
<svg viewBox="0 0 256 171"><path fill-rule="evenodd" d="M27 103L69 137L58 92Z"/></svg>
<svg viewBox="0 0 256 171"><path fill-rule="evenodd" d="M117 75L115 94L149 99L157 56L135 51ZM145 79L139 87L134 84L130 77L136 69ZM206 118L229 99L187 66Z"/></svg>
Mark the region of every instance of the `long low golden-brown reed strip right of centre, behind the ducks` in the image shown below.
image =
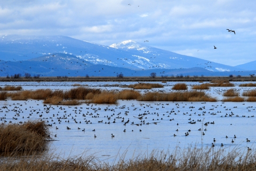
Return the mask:
<svg viewBox="0 0 256 171"><path fill-rule="evenodd" d="M139 101L217 101L217 98L206 95L205 92L147 92L138 99Z"/></svg>

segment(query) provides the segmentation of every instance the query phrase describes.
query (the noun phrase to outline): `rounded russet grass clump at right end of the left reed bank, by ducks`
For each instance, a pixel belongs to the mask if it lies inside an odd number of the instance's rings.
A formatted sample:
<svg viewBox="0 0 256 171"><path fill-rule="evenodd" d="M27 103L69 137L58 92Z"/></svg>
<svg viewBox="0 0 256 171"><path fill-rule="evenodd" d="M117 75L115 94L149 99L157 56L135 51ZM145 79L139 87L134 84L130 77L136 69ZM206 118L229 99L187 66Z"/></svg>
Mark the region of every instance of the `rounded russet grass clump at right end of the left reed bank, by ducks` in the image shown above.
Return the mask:
<svg viewBox="0 0 256 171"><path fill-rule="evenodd" d="M111 92L102 92L100 94L94 95L91 102L95 104L116 104L118 95Z"/></svg>

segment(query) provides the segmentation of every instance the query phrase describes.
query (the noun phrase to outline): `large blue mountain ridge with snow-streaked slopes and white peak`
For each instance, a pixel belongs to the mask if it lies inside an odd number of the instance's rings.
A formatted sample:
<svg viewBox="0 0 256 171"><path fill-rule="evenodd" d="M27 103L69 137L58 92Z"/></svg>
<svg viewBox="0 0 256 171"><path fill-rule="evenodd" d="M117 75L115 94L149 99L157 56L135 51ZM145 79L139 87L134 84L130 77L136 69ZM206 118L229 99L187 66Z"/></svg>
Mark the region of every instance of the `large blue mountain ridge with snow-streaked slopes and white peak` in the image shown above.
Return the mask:
<svg viewBox="0 0 256 171"><path fill-rule="evenodd" d="M150 47L146 45L146 42L140 44L126 40L118 44L103 46L65 36L2 36L0 59L2 60L0 71L5 74L7 71L14 72L18 69L22 72L33 69L34 73L45 73L46 75L63 73L61 71L69 71L67 74L70 74L70 71L89 71L91 67L92 71L90 72L95 74L100 71L101 66L97 68L94 65L108 66L109 69L115 67L114 69L134 70L137 73L155 69L162 72L191 68L194 68L193 71L202 68L204 70L201 71L209 72L243 70L241 67L223 65ZM9 71L8 67L13 70ZM48 71L50 69L51 71ZM94 69L95 71L93 71Z"/></svg>

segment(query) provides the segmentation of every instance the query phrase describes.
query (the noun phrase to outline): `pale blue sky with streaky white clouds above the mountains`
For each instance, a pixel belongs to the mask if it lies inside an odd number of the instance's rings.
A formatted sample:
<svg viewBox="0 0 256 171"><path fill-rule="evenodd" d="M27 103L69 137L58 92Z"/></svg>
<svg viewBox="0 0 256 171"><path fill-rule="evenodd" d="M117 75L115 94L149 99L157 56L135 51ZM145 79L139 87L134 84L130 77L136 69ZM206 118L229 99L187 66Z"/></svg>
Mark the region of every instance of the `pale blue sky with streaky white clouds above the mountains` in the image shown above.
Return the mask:
<svg viewBox="0 0 256 171"><path fill-rule="evenodd" d="M255 0L0 1L0 35L134 40L231 66L256 60Z"/></svg>

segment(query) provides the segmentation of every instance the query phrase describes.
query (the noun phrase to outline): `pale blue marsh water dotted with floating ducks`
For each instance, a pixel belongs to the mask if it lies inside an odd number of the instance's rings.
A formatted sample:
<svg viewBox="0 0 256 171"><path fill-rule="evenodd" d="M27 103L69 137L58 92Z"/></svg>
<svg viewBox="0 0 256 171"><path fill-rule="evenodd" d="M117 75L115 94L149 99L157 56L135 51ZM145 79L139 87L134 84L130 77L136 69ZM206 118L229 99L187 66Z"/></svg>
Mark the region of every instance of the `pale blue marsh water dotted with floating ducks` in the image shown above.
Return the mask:
<svg viewBox="0 0 256 171"><path fill-rule="evenodd" d="M22 86L24 90L46 88L68 90L74 88L72 84L75 83L102 90L120 90L127 88L111 87L109 85L119 84L122 86L136 82L2 82L0 86L3 87L5 84ZM139 91L141 93L158 90L169 92L172 91L171 87L175 83L163 83L164 88ZM199 84L195 82L186 83L189 86ZM242 93L254 89L238 87L240 83L235 82L235 87L211 87L210 90L203 91L221 100L224 90L235 88ZM3 106L7 106L8 109L2 108ZM190 146L211 147L213 138L216 140L214 142L216 148L220 147L221 143L226 148L231 149L255 147L256 118L252 117L256 116L255 102L118 100L117 105L47 105L51 108L46 110L43 100L7 100L0 101L0 107L0 110L3 111L0 113L1 123L4 121L17 123L28 119L42 119L46 124L52 124L49 128L52 136L57 134L57 137L53 136L57 141L50 142L50 152L53 151L63 158L86 153L86 155L94 155L107 161L113 161L117 155L123 154L129 159L132 156L147 155L153 150L172 151L177 147L186 149ZM200 110L201 108L202 110ZM46 113L46 111L49 113ZM43 116L39 117L40 114ZM145 115L142 119L139 119L138 117L141 117L142 114ZM57 117L61 117L60 122ZM124 125L128 120L129 123ZM113 123L114 121L115 123ZM190 124L189 122L196 123ZM205 126L204 124L207 122L209 124ZM214 124L211 124L213 122ZM56 126L58 129L56 129ZM70 130L67 130L67 126L70 127ZM82 131L83 129L85 131ZM94 129L95 131L92 131ZM198 131L199 129L201 131ZM204 131L205 129L206 131ZM189 133L189 135L186 136L185 133ZM94 134L97 138L94 138ZM115 137L112 138L111 134ZM174 134L177 136L174 136ZM236 138L234 138L235 135ZM246 142L246 138L250 142ZM234 143L231 142L232 140L234 140Z"/></svg>

